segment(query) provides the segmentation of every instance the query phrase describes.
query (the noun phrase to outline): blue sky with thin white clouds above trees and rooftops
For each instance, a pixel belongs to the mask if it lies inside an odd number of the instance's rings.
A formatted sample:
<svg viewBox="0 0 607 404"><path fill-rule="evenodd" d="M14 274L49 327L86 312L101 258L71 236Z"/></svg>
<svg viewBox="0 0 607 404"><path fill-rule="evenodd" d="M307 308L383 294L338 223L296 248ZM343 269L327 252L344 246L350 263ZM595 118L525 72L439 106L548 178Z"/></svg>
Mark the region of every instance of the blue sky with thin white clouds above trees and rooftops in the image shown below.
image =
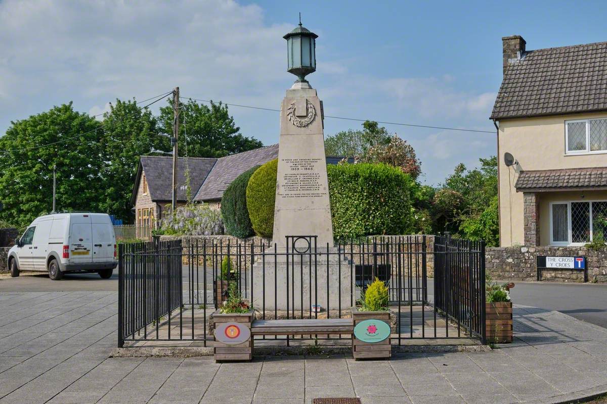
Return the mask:
<svg viewBox="0 0 607 404"><path fill-rule="evenodd" d="M279 108L294 76L282 35L319 35L308 76L325 114L493 131L501 37L527 49L607 41L606 2L0 1L0 133L73 101L91 114L115 98L181 94ZM271 111L231 107L246 136L278 141ZM325 136L358 122L325 119ZM428 184L495 154L494 133L385 125L409 141Z"/></svg>

